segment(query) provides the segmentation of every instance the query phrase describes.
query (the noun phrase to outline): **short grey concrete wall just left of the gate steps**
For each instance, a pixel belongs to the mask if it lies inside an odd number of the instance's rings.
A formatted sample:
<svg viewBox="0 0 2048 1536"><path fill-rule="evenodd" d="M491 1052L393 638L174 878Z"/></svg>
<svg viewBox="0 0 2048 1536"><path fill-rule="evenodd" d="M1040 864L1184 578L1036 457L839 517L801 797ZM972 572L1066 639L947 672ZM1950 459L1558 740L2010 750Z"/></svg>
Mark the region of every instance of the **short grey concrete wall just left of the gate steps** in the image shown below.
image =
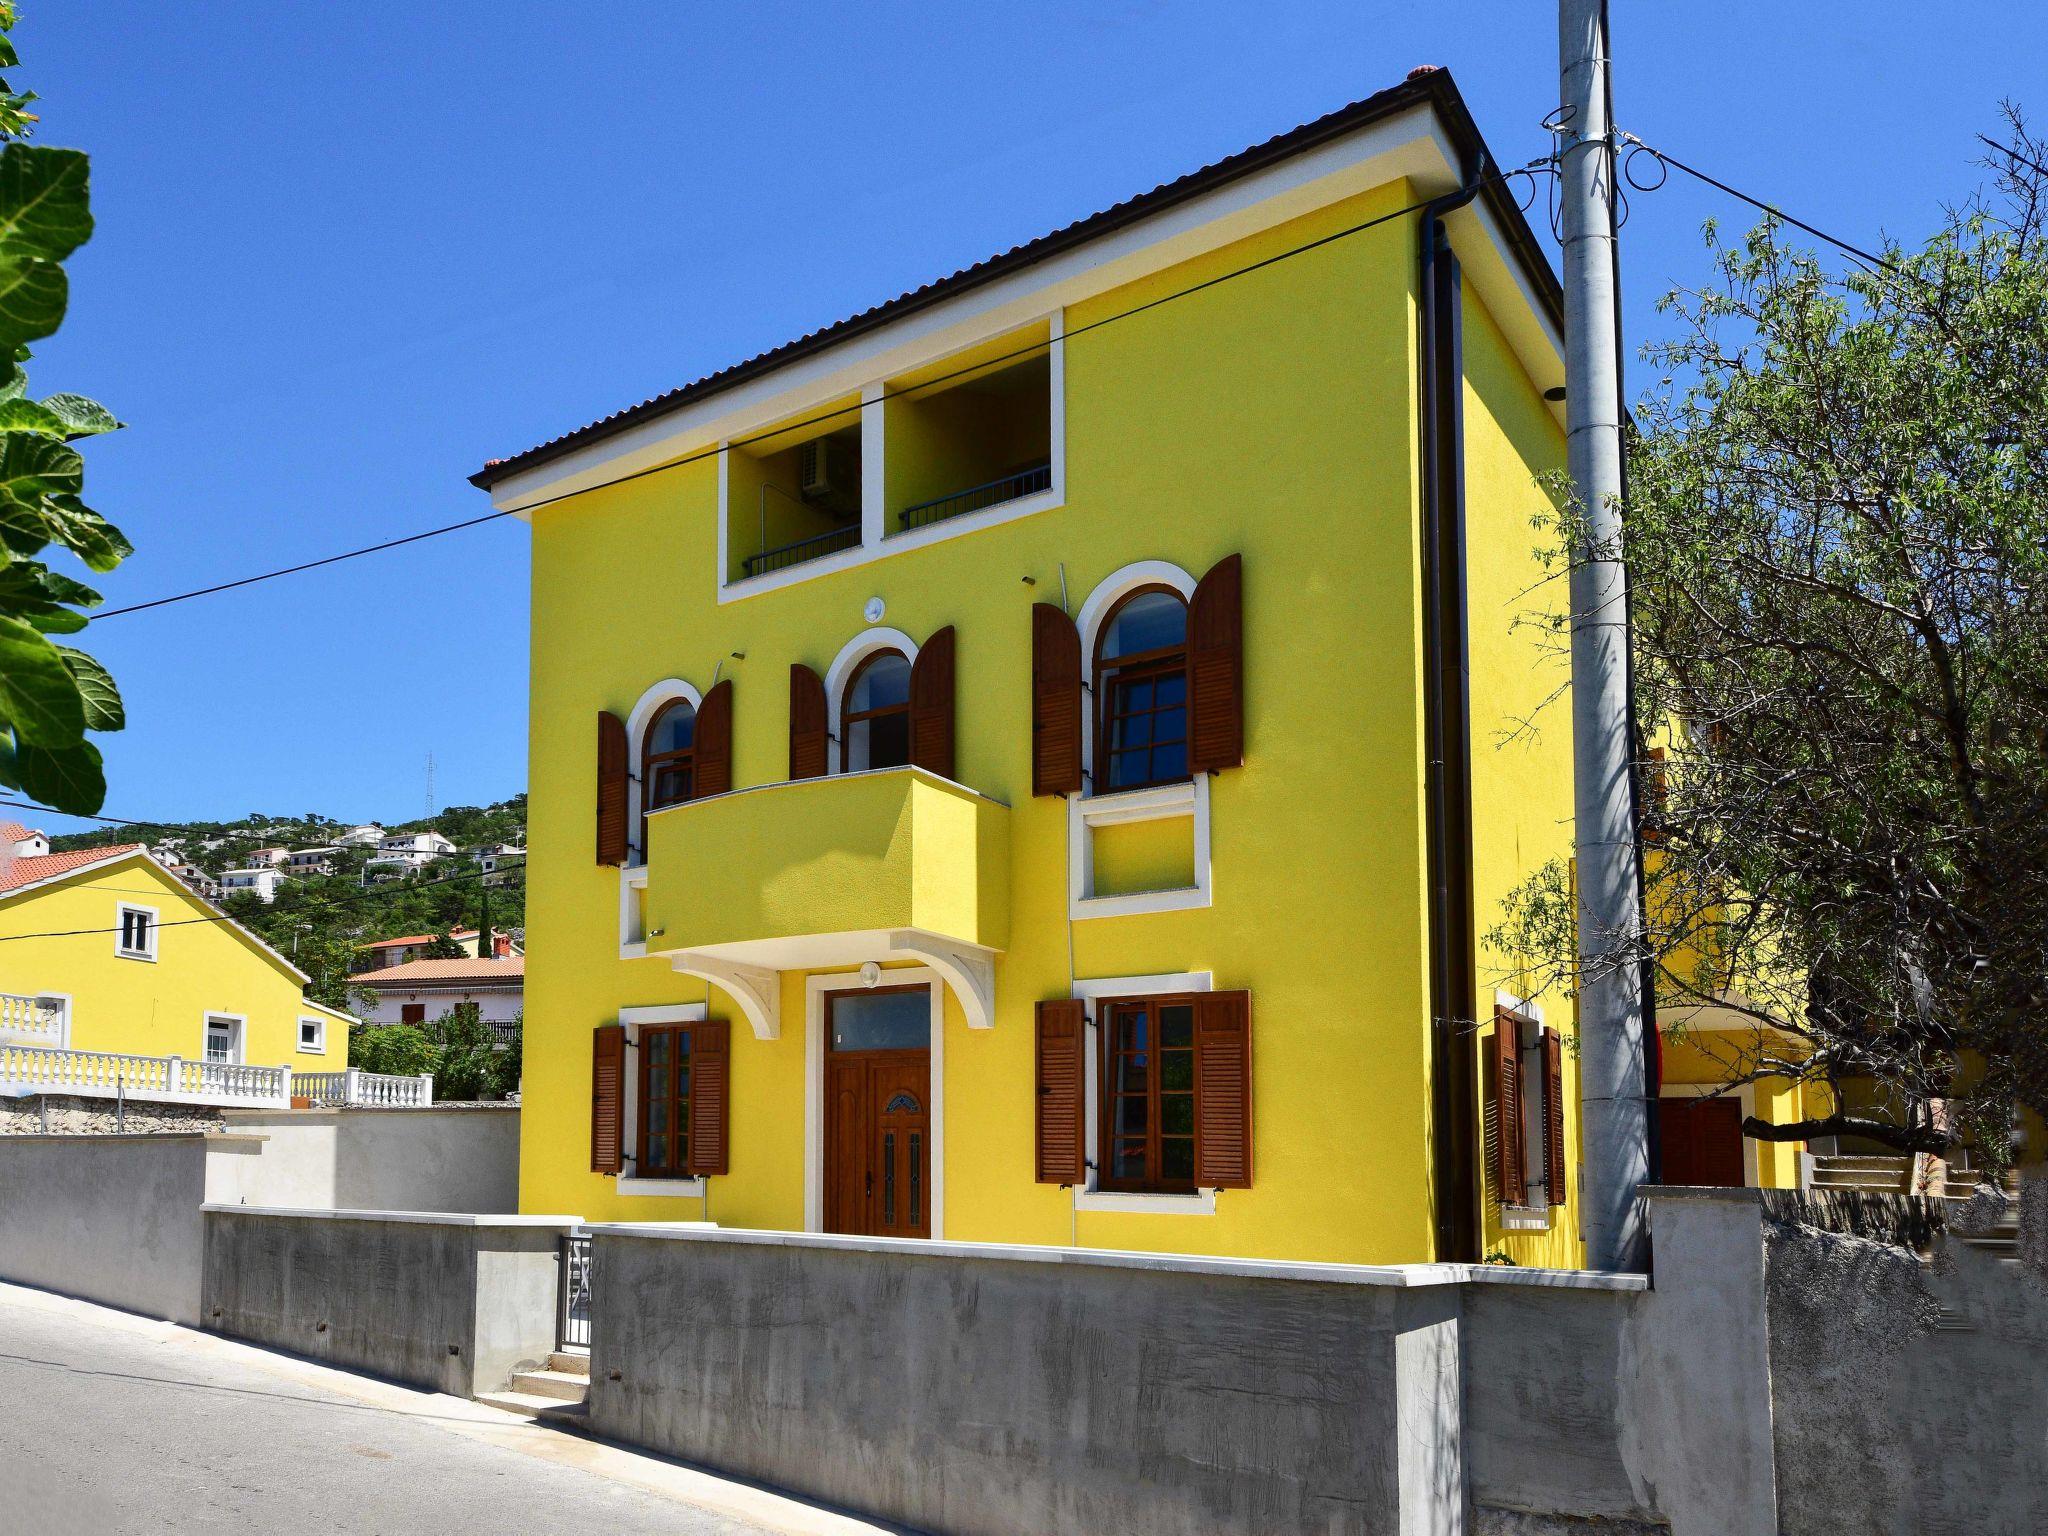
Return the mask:
<svg viewBox="0 0 2048 1536"><path fill-rule="evenodd" d="M569 1217L207 1206L203 1325L436 1393L555 1348Z"/></svg>

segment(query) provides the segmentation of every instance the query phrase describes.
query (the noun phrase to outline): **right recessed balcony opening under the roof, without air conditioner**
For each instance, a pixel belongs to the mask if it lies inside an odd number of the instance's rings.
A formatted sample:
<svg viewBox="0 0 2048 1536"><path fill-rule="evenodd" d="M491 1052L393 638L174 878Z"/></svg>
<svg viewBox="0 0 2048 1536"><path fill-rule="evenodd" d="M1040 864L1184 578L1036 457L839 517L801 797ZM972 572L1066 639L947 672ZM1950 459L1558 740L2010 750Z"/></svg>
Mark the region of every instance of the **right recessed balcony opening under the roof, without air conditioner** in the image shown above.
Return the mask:
<svg viewBox="0 0 2048 1536"><path fill-rule="evenodd" d="M942 365L889 399L887 535L915 532L1053 487L1053 365L1040 340L993 342L987 367ZM1024 350L1024 356L1016 352Z"/></svg>

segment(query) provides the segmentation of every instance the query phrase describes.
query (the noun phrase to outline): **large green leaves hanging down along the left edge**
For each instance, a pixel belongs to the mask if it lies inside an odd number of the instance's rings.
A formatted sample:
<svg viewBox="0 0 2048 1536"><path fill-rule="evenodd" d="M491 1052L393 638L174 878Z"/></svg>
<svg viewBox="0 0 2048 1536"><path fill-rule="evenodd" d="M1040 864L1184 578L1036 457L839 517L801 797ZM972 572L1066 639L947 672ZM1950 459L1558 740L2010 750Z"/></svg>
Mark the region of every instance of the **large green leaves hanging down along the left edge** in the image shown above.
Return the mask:
<svg viewBox="0 0 2048 1536"><path fill-rule="evenodd" d="M20 63L14 18L0 0L0 70ZM90 813L106 776L86 733L119 731L125 715L106 668L53 639L84 629L100 594L39 555L55 545L111 571L131 547L82 500L72 446L119 422L84 395L31 399L23 373L29 344L63 324L63 260L92 236L86 156L27 143L33 100L0 80L0 784Z"/></svg>

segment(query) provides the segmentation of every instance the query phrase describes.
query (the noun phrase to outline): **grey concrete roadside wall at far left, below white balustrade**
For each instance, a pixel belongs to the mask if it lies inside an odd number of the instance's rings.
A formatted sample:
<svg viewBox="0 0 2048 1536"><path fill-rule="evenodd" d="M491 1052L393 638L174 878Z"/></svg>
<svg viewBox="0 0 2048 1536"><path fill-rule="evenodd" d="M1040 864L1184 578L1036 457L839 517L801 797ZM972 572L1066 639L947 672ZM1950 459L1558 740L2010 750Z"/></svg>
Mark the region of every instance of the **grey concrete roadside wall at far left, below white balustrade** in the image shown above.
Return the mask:
<svg viewBox="0 0 2048 1536"><path fill-rule="evenodd" d="M0 1278L199 1323L199 1208L260 1155L197 1133L0 1139Z"/></svg>

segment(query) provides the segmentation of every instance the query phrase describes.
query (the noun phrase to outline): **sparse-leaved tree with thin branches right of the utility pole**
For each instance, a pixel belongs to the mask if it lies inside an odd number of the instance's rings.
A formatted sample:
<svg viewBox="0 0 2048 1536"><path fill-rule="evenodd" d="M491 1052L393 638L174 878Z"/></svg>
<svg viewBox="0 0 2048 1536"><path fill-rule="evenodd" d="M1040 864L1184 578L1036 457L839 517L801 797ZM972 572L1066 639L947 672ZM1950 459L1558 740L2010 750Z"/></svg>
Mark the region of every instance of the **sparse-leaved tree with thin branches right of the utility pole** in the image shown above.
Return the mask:
<svg viewBox="0 0 2048 1536"><path fill-rule="evenodd" d="M1831 270L1776 221L1665 301L1626 553L1665 1016L1729 1085L1823 1083L1774 1141L1968 1141L2048 1112L2048 145L1921 250ZM1579 528L1559 528L1559 549ZM1495 934L1573 969L1563 868ZM1735 1040L1731 1044L1731 1038Z"/></svg>

